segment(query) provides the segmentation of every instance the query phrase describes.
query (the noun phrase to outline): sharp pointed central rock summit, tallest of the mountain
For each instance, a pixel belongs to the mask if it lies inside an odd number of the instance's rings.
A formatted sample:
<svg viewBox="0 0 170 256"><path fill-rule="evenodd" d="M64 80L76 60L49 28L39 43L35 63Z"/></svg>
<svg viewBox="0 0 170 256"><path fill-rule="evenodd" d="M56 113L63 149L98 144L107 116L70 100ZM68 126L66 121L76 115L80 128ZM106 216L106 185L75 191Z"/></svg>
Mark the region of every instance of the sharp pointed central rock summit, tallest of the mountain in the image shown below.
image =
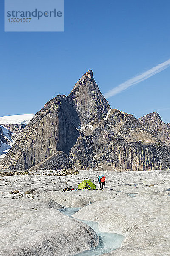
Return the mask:
<svg viewBox="0 0 170 256"><path fill-rule="evenodd" d="M88 70L67 97L77 111L81 124L99 122L111 109L96 84L92 70Z"/></svg>

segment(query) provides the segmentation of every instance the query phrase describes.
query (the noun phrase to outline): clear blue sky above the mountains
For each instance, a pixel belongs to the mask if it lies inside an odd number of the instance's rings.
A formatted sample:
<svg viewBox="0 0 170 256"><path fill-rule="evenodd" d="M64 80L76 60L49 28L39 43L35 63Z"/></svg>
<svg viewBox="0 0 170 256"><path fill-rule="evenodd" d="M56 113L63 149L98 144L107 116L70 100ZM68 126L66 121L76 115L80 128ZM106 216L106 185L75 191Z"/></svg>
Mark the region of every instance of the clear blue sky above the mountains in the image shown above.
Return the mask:
<svg viewBox="0 0 170 256"><path fill-rule="evenodd" d="M65 32L4 32L3 8L0 116L36 113L89 69L104 94L170 58L169 0L65 0ZM108 102L170 122L170 67Z"/></svg>

